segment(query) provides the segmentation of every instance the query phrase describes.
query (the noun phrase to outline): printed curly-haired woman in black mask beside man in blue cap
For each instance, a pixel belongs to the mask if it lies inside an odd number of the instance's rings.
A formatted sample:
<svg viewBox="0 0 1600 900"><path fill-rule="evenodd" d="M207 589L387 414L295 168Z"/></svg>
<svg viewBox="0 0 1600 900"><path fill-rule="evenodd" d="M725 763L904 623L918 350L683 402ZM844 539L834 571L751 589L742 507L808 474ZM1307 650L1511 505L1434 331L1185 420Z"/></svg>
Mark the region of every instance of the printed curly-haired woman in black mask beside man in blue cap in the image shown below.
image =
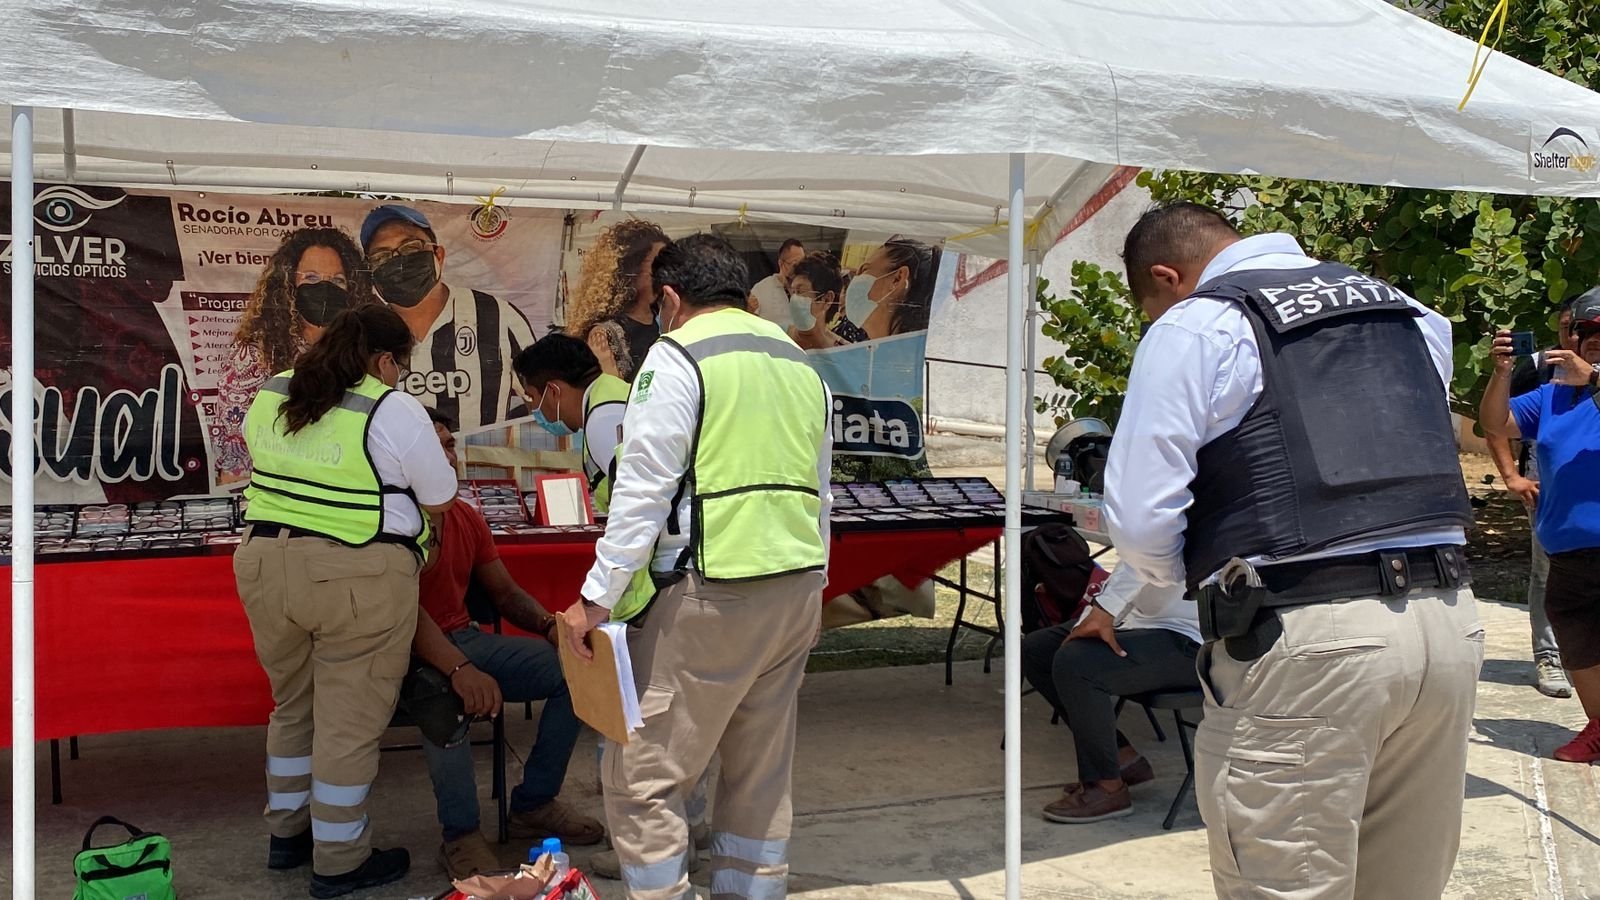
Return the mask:
<svg viewBox="0 0 1600 900"><path fill-rule="evenodd" d="M250 480L243 426L261 384L293 368L334 315L374 299L362 250L344 229L302 227L283 237L250 293L218 376L218 487Z"/></svg>

